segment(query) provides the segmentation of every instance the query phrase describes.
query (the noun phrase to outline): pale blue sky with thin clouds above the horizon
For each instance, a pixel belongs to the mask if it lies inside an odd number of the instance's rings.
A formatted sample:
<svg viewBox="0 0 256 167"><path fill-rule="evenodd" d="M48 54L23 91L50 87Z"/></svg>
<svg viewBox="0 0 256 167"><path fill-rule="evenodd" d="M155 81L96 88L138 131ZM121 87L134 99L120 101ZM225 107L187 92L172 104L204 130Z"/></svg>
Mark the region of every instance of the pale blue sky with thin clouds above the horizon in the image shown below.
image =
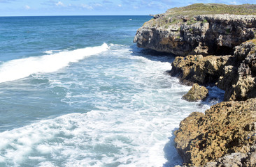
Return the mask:
<svg viewBox="0 0 256 167"><path fill-rule="evenodd" d="M192 3L256 3L255 0L0 0L0 16L155 15Z"/></svg>

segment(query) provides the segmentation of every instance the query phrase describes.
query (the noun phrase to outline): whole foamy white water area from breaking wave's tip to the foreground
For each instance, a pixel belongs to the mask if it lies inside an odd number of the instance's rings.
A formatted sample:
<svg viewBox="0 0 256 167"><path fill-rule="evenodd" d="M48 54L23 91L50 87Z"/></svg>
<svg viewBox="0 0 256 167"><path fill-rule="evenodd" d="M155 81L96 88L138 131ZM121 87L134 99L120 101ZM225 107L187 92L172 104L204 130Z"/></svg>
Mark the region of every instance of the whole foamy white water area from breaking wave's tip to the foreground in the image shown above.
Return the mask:
<svg viewBox="0 0 256 167"><path fill-rule="evenodd" d="M48 76L52 88L66 89L62 102L83 108L90 100L94 109L1 132L0 166L165 167L181 162L173 130L192 111L208 106L181 100L191 87L166 74L171 63L131 56L131 49L122 45L109 46L91 71L83 69L82 61L73 70L83 72ZM106 64L104 56L113 59ZM88 88L92 93L83 92Z"/></svg>

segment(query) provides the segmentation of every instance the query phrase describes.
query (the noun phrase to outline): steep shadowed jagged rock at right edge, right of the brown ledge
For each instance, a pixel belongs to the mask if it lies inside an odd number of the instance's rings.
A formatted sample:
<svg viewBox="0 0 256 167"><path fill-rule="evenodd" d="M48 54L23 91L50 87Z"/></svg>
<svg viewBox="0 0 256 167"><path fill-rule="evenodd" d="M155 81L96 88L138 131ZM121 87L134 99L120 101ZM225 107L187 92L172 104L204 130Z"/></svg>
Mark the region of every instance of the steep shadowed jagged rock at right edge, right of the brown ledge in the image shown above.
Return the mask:
<svg viewBox="0 0 256 167"><path fill-rule="evenodd" d="M236 66L227 67L218 86L225 90L225 100L247 100L256 97L256 45L245 42L235 48ZM228 85L223 85L229 83Z"/></svg>

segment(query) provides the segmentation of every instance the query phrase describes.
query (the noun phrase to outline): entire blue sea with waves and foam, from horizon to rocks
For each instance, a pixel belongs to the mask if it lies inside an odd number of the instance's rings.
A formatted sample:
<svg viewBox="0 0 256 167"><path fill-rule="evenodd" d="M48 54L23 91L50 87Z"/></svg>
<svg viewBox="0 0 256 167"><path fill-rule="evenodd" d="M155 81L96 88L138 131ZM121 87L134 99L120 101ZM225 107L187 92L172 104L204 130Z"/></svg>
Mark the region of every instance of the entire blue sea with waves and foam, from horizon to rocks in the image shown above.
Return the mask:
<svg viewBox="0 0 256 167"><path fill-rule="evenodd" d="M136 47L150 18L0 17L0 166L180 164L173 131L218 100L181 100L174 57Z"/></svg>

